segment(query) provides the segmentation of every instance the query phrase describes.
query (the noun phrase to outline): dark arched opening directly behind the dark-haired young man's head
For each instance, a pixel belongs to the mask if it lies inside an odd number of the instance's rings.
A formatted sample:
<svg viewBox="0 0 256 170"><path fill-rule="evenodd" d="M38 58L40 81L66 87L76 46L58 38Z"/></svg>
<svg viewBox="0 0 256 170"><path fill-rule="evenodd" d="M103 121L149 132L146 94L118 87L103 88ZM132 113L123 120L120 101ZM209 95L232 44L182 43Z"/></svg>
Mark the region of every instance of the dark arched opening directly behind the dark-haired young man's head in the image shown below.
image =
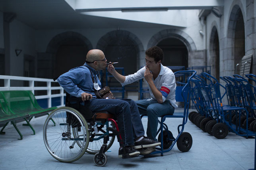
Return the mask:
<svg viewBox="0 0 256 170"><path fill-rule="evenodd" d="M188 50L181 40L178 38L165 38L157 46L164 53L163 65L188 67Z"/></svg>

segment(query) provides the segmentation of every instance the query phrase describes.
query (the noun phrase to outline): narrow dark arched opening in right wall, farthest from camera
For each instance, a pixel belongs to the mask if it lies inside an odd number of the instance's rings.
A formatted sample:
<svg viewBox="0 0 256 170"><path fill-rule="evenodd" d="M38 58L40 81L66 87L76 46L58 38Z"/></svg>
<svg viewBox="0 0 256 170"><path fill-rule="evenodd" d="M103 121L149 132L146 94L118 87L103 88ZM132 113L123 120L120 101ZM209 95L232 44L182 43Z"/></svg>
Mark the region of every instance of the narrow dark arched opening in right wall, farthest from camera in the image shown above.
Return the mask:
<svg viewBox="0 0 256 170"><path fill-rule="evenodd" d="M207 65L211 66L211 74L219 80L219 36L215 26L211 30L210 59Z"/></svg>

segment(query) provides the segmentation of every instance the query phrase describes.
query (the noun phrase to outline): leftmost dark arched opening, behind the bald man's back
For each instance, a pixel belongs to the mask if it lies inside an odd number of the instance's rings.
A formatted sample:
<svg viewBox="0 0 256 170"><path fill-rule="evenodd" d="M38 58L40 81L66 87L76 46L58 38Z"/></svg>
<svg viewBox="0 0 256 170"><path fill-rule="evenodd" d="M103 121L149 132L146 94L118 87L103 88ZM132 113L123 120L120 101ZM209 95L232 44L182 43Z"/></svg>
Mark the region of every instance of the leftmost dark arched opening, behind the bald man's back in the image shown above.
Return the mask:
<svg viewBox="0 0 256 170"><path fill-rule="evenodd" d="M45 53L38 53L38 75L53 78L83 65L91 42L77 32L63 32L50 40Z"/></svg>

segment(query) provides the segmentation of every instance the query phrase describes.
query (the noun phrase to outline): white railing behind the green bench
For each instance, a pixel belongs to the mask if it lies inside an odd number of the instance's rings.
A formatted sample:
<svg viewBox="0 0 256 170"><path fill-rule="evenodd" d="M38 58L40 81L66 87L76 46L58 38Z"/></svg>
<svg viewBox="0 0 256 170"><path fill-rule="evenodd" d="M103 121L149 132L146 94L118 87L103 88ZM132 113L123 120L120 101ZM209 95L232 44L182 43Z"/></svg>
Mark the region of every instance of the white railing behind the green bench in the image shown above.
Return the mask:
<svg viewBox="0 0 256 170"><path fill-rule="evenodd" d="M60 97L60 105L57 107L64 106L64 90L61 86L58 85L57 81L53 81L52 79L48 78L33 78L33 77L20 77L20 76L4 76L0 75L0 80L4 80L4 86L0 87L0 91L7 91L7 90L31 90L35 95L35 91L39 90L47 90L47 95L35 96L36 99L47 99L48 100L48 107L52 107L52 98ZM15 82L11 82L15 80ZM28 81L29 86L24 87L23 82ZM46 86L35 87L35 82L46 82ZM57 86L51 86L51 83L54 82ZM11 86L12 85L12 86ZM13 86L15 85L15 86ZM52 94L52 90L60 90L58 94Z"/></svg>

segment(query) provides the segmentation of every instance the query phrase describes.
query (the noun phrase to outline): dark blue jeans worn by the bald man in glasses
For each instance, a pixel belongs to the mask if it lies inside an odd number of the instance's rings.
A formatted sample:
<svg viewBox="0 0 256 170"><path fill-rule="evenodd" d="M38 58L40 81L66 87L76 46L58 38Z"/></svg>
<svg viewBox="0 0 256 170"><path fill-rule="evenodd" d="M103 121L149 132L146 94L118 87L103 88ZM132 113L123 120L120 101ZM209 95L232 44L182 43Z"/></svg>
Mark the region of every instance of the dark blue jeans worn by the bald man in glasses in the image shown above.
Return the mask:
<svg viewBox="0 0 256 170"><path fill-rule="evenodd" d="M87 103L87 102L85 102ZM124 146L134 145L134 139L144 136L138 107L132 99L91 99L87 103L92 112L108 111L116 115Z"/></svg>

